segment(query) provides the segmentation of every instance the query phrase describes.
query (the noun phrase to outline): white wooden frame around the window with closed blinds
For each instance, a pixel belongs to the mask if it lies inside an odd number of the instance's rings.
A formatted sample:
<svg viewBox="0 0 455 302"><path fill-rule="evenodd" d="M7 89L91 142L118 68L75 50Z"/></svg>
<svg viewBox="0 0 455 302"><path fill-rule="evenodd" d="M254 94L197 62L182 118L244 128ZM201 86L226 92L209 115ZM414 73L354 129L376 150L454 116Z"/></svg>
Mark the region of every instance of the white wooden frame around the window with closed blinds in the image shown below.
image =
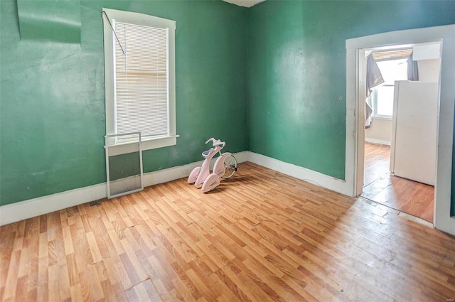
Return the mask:
<svg viewBox="0 0 455 302"><path fill-rule="evenodd" d="M106 107L106 134L115 133L115 39L111 28L112 20L123 23L168 28L168 133L160 136L150 136L142 141L142 149L157 149L177 144L176 134L176 59L175 59L175 31L176 21L131 11L102 8L103 34L105 48L105 107ZM107 16L106 16L107 15ZM109 21L107 20L109 18ZM109 24L110 22L110 24ZM129 142L117 142L120 149L127 151Z"/></svg>

